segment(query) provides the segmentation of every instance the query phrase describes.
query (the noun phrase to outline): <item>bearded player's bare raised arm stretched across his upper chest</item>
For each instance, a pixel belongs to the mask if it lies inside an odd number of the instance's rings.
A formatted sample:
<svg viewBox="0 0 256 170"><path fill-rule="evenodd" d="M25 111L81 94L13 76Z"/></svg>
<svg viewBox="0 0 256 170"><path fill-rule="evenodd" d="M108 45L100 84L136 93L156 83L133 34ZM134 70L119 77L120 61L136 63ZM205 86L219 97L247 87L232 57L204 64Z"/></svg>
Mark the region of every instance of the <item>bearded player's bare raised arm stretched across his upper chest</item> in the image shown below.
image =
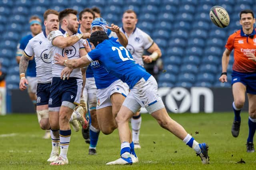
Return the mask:
<svg viewBox="0 0 256 170"><path fill-rule="evenodd" d="M90 38L90 33L82 33L71 37L58 36L52 40L52 44L60 48L66 48L71 45L74 45L80 39L86 38Z"/></svg>

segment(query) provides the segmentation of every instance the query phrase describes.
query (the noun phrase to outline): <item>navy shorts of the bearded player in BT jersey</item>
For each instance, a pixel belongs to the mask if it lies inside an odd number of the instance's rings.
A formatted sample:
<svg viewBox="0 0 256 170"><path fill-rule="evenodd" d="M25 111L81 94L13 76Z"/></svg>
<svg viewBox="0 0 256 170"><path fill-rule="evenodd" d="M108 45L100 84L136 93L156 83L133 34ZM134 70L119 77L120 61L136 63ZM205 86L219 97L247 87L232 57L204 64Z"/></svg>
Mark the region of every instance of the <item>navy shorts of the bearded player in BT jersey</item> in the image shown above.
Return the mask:
<svg viewBox="0 0 256 170"><path fill-rule="evenodd" d="M60 77L53 77L48 107L60 107L63 101L78 105L82 83L83 80L80 78L70 77L68 80L62 80Z"/></svg>

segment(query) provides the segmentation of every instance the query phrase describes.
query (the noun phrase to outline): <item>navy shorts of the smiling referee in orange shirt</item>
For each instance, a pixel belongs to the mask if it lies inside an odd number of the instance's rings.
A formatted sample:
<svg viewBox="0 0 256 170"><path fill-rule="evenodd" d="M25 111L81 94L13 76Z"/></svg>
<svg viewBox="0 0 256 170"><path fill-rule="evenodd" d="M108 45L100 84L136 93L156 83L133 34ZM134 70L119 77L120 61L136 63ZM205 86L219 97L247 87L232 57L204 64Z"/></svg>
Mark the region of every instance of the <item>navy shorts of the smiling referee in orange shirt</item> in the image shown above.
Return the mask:
<svg viewBox="0 0 256 170"><path fill-rule="evenodd" d="M237 72L233 70L231 76L232 85L241 82L246 86L246 93L256 94L256 72Z"/></svg>

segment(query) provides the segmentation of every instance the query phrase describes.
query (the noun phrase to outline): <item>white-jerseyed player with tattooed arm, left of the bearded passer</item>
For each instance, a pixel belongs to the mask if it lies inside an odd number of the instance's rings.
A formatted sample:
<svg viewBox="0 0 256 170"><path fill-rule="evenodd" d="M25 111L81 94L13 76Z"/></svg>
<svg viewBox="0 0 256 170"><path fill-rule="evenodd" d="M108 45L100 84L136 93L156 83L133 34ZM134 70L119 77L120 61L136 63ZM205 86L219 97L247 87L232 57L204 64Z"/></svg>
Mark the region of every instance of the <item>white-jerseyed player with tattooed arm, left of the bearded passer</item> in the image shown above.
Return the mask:
<svg viewBox="0 0 256 170"><path fill-rule="evenodd" d="M42 129L50 129L48 101L52 82L52 63L48 55L47 36L51 31L59 29L58 12L55 10L46 10L44 12L44 25L46 29L30 39L20 58L20 90L27 88L26 84L28 84L28 80L25 77L25 72L30 59L33 57L36 62L36 78L38 82L36 90L38 122ZM60 141L58 130L54 131L51 129L50 135L52 138L52 153L47 160L48 162L52 162L58 158Z"/></svg>

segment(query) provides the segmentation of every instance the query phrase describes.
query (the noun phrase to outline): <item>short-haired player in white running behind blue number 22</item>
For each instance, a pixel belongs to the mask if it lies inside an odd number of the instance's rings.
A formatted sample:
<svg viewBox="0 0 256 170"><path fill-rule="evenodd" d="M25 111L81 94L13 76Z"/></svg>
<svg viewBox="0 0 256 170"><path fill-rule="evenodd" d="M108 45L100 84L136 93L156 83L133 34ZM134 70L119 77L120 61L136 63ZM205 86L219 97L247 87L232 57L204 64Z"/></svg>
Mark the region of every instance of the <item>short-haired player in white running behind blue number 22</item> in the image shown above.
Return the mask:
<svg viewBox="0 0 256 170"><path fill-rule="evenodd" d="M162 53L158 45L152 40L152 38L136 27L138 22L137 15L133 10L126 10L123 14L122 23L123 27L120 28L126 37L128 38L128 45L126 49L130 51L134 60L144 67L144 63L152 63L161 57ZM147 50L151 55L143 55L144 50ZM132 125L132 140L134 141L134 148L140 149L139 135L141 116L137 112L131 119Z"/></svg>

